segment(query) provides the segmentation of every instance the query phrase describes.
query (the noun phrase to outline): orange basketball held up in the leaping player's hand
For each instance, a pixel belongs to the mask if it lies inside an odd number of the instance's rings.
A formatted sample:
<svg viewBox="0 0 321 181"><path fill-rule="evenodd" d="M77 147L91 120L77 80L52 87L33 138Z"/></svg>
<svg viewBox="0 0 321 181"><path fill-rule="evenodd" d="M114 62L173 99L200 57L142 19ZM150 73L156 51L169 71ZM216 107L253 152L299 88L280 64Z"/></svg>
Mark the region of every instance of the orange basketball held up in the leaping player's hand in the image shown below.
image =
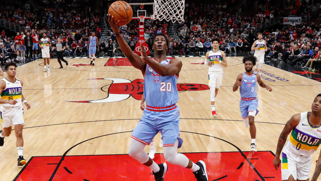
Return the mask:
<svg viewBox="0 0 321 181"><path fill-rule="evenodd" d="M133 9L125 1L115 1L109 6L108 14L114 16L114 23L119 20L118 26L123 26L132 20Z"/></svg>

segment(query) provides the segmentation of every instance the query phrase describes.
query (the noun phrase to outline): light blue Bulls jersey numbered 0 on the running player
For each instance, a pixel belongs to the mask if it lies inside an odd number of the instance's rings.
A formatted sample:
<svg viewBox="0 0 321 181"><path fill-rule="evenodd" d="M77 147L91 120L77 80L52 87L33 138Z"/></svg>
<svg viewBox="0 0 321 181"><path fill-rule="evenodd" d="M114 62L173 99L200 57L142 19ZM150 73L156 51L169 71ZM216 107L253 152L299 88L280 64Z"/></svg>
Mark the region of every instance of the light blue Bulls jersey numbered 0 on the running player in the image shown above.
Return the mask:
<svg viewBox="0 0 321 181"><path fill-rule="evenodd" d="M240 86L241 98L253 98L257 96L256 93L256 74L248 76L246 73L242 73L242 85Z"/></svg>

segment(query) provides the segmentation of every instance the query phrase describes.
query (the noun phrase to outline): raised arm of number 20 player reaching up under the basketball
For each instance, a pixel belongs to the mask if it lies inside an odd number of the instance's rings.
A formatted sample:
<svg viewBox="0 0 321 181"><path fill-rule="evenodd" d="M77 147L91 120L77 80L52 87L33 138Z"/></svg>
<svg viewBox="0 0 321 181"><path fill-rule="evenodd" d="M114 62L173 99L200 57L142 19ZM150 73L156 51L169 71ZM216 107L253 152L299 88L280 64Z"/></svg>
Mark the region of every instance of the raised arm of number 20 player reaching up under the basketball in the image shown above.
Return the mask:
<svg viewBox="0 0 321 181"><path fill-rule="evenodd" d="M146 63L142 61L142 59L139 57L139 55L137 55L136 53L134 53L132 51L132 49L130 48L130 46L126 43L126 41L124 40L124 38L121 36L121 34L118 34L120 32L117 24L119 23L119 21L117 21L117 23L114 23L114 16L108 14L108 23L111 27L111 29L113 30L116 38L117 38L117 42L118 45L120 47L120 49L122 50L122 52L125 54L125 56L128 58L129 62L136 68L142 71L142 73L144 74L145 72L145 68L146 68Z"/></svg>

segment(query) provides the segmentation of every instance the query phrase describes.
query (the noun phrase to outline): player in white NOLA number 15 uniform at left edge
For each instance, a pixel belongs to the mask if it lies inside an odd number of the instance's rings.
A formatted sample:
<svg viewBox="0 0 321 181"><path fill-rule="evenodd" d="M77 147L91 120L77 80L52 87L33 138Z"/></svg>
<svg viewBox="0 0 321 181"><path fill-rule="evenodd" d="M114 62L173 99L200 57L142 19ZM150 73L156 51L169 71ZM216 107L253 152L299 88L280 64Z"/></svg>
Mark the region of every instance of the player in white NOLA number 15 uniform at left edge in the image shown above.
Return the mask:
<svg viewBox="0 0 321 181"><path fill-rule="evenodd" d="M24 124L23 119L23 102L30 109L30 104L24 99L22 95L23 82L15 78L16 63L9 62L5 65L5 71L8 76L0 81L0 115L3 130L0 130L0 146L4 144L4 137L8 137L12 132L12 125L14 126L14 133L17 138L18 149L18 166L25 165L27 162L23 158L23 138L22 129Z"/></svg>

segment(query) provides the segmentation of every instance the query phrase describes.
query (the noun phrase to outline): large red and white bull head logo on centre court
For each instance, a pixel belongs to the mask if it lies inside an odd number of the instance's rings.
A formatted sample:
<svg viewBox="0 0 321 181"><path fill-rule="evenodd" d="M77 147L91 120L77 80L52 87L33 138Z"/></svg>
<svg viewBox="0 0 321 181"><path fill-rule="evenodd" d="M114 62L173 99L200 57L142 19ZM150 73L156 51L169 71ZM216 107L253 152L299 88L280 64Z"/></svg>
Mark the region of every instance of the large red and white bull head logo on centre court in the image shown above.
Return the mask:
<svg viewBox="0 0 321 181"><path fill-rule="evenodd" d="M143 79L135 79L130 81L122 78L100 78L90 80L111 80L113 81L108 88L108 96L105 99L100 100L85 100L85 101L68 101L68 102L85 102L85 103L106 103L106 102L117 102L128 99L132 96L136 100L142 100L143 97ZM108 86L108 85L106 85ZM103 90L106 86L102 87ZM205 84L194 84L194 83L177 83L177 90L183 91L196 91L196 90L208 90L210 89ZM106 91L107 92L107 91Z"/></svg>

